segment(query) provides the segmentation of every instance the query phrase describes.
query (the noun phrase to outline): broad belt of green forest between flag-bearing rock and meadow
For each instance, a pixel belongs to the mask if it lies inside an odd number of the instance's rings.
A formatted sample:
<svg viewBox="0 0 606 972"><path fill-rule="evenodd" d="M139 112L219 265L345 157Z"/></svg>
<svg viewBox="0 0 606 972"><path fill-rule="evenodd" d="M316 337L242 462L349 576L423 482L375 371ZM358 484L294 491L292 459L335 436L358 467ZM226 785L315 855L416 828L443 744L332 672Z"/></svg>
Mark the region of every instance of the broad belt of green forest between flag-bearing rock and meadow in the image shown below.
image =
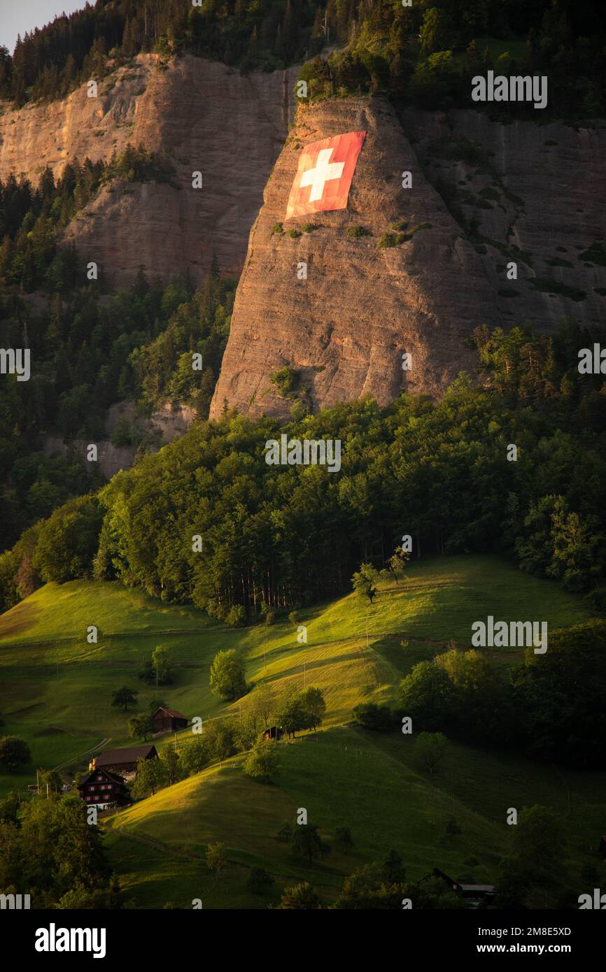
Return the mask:
<svg viewBox="0 0 606 972"><path fill-rule="evenodd" d="M102 489L98 534L88 501L80 512L71 503L30 532L27 550L19 541L3 555L3 604L27 573L32 587L119 578L215 616L296 607L341 592L361 560L383 567L403 534L417 554L505 551L570 590L593 588L606 569L605 399L576 349L597 338L574 323L554 338L481 329L484 388L462 377L438 403L362 400L298 412L283 429L228 413L195 424ZM340 439L339 474L269 467L267 439L281 432ZM76 564L79 516L88 540Z"/></svg>

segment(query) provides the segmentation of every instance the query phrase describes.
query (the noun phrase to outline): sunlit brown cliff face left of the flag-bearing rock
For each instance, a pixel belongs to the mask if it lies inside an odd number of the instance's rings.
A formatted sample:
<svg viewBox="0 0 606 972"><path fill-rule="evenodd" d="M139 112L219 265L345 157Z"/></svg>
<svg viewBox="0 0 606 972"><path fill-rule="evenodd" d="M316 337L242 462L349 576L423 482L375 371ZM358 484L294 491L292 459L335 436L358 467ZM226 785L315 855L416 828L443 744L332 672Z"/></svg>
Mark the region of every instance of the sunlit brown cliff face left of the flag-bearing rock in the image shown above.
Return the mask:
<svg viewBox="0 0 606 972"><path fill-rule="evenodd" d="M37 180L49 164L60 174L74 156L107 159L127 142L165 152L175 169L166 183L101 191L65 232L124 286L139 266L164 279L190 270L195 280L216 253L237 276L246 241L293 110L297 70L242 76L224 64L184 56L162 66L141 54L99 83L63 101L0 115L0 178ZM192 188L192 173L202 188Z"/></svg>

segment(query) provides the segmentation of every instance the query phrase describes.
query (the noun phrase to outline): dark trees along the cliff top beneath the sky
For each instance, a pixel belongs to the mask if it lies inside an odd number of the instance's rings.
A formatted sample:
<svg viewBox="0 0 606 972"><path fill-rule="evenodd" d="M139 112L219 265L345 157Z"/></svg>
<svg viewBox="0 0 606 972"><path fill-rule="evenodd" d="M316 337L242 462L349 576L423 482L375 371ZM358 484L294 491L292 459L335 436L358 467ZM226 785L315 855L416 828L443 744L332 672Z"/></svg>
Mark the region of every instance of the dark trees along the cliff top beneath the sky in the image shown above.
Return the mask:
<svg viewBox="0 0 606 972"><path fill-rule="evenodd" d="M604 17L591 0L97 0L19 38L13 56L0 49L0 97L17 106L62 97L137 52L192 52L248 71L337 45L304 68L312 96L384 90L427 107L469 106L471 77L494 68L547 73L548 111L588 117L605 104Z"/></svg>

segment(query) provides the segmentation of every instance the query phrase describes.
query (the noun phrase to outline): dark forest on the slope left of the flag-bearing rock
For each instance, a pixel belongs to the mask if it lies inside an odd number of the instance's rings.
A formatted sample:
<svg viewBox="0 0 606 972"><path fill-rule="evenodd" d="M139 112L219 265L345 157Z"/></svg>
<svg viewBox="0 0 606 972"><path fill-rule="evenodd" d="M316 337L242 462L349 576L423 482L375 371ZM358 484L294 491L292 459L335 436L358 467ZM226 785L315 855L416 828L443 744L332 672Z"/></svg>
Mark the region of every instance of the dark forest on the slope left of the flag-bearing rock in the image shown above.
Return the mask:
<svg viewBox="0 0 606 972"><path fill-rule="evenodd" d="M80 262L70 257L58 251L47 273L66 260L75 275ZM24 271L30 266L23 264ZM15 287L0 285L3 346L29 348L35 363L29 382L6 375L0 385L3 548L60 503L100 485L96 464L86 463L82 451L45 456L46 435L98 441L107 409L123 399L137 400L147 413L178 400L208 415L235 282L221 280L216 268L197 289L188 280L148 283L139 273L127 291L103 297L98 283L82 286L86 267L80 269L79 286L55 294L40 309ZM201 356L198 370L193 354ZM130 432L118 428L114 444L131 441ZM139 442L140 454L152 444Z"/></svg>

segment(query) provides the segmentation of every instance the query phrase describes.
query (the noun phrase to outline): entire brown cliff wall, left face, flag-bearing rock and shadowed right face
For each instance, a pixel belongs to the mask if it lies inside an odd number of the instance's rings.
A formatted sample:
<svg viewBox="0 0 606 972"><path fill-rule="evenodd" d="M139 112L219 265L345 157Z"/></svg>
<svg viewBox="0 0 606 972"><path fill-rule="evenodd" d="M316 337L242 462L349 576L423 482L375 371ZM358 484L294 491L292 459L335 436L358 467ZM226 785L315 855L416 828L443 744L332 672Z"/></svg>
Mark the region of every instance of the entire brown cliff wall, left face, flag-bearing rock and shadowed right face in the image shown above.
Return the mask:
<svg viewBox="0 0 606 972"><path fill-rule="evenodd" d="M602 320L603 122L397 117L381 99L336 98L301 107L284 143L296 76L243 77L191 56L162 65L145 54L103 80L96 99L81 88L0 114L2 178L35 178L47 163L59 173L74 156L107 159L128 141L170 157L174 185L106 187L65 240L100 263L110 286L129 283L139 266L199 279L213 253L225 274L244 265L213 417L225 401L286 417L292 401L270 382L285 365L314 408L371 395L385 403L403 388L439 395L473 367L463 341L478 325L530 321L550 331L566 316ZM360 129L368 135L348 208L272 233L303 145ZM412 186L403 189L407 170ZM378 247L395 225L410 238ZM371 235L352 238L354 226Z"/></svg>

